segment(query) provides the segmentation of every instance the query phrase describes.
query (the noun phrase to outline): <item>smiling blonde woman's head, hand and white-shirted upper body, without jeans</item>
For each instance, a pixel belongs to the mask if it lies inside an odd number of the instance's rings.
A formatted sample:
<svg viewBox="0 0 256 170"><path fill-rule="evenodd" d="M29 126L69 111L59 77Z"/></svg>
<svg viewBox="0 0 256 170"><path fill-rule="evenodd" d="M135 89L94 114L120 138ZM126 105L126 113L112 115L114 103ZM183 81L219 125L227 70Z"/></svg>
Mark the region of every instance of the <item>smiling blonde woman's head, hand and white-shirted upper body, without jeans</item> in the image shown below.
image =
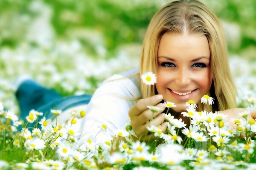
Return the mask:
<svg viewBox="0 0 256 170"><path fill-rule="evenodd" d="M157 75L153 86L140 79L148 71ZM215 99L212 106L200 103L205 94ZM221 25L215 14L196 0L169 3L154 15L143 42L140 72L114 75L95 91L81 121L80 142L96 134L97 139L105 140L129 124L129 118L136 135L149 139L146 127L152 112L148 105L161 108L150 123L160 125L164 132L164 101L174 102L177 107L169 112L189 124L180 114L186 111L188 100L198 105L198 111L222 111L230 118L242 111L236 109L236 88ZM102 125L107 131L98 134Z"/></svg>

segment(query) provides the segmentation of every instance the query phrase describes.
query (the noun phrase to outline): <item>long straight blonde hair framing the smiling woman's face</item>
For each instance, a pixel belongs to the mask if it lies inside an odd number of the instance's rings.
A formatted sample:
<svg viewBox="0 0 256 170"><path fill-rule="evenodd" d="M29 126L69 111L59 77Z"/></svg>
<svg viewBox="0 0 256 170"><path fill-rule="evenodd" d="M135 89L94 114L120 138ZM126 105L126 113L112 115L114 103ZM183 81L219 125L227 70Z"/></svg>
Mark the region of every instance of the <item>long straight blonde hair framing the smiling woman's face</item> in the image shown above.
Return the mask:
<svg viewBox="0 0 256 170"><path fill-rule="evenodd" d="M161 8L149 23L142 46L140 75L153 71L157 73L157 51L165 32L175 34L199 33L205 35L210 48L212 85L209 95L215 104L206 108L198 103L198 110L222 111L236 107L236 88L231 77L224 32L218 18L204 4L197 0L180 0ZM154 86L140 83L142 98L157 93Z"/></svg>

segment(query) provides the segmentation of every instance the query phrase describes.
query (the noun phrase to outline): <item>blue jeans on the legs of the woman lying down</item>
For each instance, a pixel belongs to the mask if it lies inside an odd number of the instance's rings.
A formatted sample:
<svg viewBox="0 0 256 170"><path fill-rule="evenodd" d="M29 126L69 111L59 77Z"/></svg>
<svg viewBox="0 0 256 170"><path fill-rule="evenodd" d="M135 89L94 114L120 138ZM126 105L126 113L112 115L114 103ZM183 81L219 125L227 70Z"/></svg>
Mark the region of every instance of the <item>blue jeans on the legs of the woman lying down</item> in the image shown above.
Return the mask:
<svg viewBox="0 0 256 170"><path fill-rule="evenodd" d="M65 111L69 108L85 105L90 102L91 95L79 96L61 96L55 90L50 90L38 85L33 80L22 82L15 93L20 106L20 119L26 122L26 116L29 111L34 109L38 112L43 112L43 116L38 117L40 121L44 116L46 119L54 118L50 113L51 109ZM29 123L27 127L33 127L34 123Z"/></svg>

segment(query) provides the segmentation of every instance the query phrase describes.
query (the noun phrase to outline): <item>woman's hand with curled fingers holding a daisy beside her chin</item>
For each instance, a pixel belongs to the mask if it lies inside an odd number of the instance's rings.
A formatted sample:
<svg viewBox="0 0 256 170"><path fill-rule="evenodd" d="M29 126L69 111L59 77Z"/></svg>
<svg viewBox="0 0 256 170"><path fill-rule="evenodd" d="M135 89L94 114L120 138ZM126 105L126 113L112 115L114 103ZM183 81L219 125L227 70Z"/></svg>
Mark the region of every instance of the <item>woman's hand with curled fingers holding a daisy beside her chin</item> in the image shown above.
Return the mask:
<svg viewBox="0 0 256 170"><path fill-rule="evenodd" d="M129 111L131 127L138 137L143 137L143 140L154 139L153 136L151 137L151 135L148 134L148 130L146 129L146 127L150 125L161 125L162 132L165 132L167 129L167 122L163 123L165 119L165 113L162 113L166 108L166 105L164 103L159 103L162 100L163 96L159 94L148 97L146 99L141 99ZM152 111L147 108L148 105L156 106L161 110L153 113L152 115Z"/></svg>

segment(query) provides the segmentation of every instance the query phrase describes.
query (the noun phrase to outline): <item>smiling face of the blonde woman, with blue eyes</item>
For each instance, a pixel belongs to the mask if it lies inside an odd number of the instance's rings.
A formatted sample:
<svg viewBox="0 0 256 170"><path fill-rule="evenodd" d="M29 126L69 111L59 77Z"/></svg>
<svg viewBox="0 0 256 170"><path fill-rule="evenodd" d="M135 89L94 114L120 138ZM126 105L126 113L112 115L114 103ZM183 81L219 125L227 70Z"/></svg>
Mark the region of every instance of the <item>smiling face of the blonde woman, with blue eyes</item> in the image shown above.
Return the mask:
<svg viewBox="0 0 256 170"><path fill-rule="evenodd" d="M158 48L156 88L163 99L174 102L174 111L186 110L186 102L196 104L211 85L210 50L201 34L163 34Z"/></svg>

